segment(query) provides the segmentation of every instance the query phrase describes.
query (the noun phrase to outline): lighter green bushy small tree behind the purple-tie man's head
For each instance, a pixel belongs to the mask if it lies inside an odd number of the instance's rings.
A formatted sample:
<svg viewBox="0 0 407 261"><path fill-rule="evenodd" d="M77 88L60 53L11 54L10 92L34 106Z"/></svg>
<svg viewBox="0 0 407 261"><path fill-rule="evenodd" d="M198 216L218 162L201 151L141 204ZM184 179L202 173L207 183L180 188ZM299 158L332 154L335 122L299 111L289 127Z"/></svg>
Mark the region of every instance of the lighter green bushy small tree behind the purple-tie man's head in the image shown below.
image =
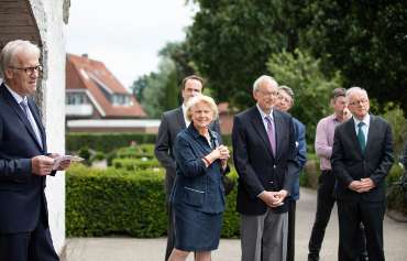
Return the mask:
<svg viewBox="0 0 407 261"><path fill-rule="evenodd" d="M329 113L330 93L342 86L340 74L327 78L320 61L299 50L272 54L267 67L279 85L293 89L295 104L290 113L306 124L307 140L314 141L318 121Z"/></svg>

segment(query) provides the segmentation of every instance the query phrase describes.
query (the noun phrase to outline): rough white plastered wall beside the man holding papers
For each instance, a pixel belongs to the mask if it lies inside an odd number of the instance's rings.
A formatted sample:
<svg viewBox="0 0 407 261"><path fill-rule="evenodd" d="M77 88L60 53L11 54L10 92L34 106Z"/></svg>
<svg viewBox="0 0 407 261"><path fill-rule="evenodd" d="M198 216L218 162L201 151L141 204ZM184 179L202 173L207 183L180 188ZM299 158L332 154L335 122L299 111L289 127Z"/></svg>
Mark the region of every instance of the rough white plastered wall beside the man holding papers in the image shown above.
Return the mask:
<svg viewBox="0 0 407 261"><path fill-rule="evenodd" d="M30 0L43 44L45 68L43 121L48 152L65 152L65 24L64 0ZM65 174L47 178L50 227L58 253L65 244Z"/></svg>

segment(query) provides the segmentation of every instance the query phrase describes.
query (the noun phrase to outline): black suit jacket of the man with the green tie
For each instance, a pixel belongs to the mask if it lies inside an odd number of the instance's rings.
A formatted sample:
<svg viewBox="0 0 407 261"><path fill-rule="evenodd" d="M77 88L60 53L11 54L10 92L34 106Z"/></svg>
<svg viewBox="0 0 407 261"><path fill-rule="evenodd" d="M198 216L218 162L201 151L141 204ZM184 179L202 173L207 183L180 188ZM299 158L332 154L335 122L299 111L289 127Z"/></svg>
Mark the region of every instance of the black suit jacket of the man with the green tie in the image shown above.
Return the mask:
<svg viewBox="0 0 407 261"><path fill-rule="evenodd" d="M384 178L393 164L392 128L381 117L371 115L365 151L358 142L353 118L338 126L332 148L332 172L337 176L338 199L381 202L385 199ZM366 193L348 188L352 181L370 177L376 187Z"/></svg>

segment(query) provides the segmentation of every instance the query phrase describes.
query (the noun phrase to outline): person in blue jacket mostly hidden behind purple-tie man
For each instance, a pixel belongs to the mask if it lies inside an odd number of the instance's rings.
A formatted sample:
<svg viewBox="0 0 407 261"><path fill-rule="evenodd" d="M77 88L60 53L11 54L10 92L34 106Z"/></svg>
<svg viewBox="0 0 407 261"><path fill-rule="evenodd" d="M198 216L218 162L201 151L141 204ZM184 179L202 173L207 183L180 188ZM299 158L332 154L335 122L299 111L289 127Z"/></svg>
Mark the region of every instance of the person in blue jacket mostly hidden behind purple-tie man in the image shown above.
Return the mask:
<svg viewBox="0 0 407 261"><path fill-rule="evenodd" d="M294 106L294 91L288 86L278 87L278 97L276 108L280 111L288 112ZM293 117L296 148L297 148L297 161L299 170L301 171L307 162L307 142L306 142L306 128L296 118ZM289 200L288 209L288 243L287 243L287 261L295 260L295 224L296 224L296 202L299 199L299 173L298 177L294 183L293 192Z"/></svg>

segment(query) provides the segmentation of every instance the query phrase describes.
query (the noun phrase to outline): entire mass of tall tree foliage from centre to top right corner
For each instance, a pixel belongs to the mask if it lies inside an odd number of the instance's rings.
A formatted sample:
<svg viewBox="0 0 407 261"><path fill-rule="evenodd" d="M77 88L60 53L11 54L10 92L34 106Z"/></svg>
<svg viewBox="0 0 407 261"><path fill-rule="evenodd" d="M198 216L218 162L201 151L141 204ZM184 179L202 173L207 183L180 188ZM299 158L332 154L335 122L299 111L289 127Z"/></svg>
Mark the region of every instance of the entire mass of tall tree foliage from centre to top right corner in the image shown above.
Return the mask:
<svg viewBox="0 0 407 261"><path fill-rule="evenodd" d="M381 107L407 112L407 1L195 0L187 47L216 98L252 104L253 80L271 54L310 50L320 68L361 86Z"/></svg>

